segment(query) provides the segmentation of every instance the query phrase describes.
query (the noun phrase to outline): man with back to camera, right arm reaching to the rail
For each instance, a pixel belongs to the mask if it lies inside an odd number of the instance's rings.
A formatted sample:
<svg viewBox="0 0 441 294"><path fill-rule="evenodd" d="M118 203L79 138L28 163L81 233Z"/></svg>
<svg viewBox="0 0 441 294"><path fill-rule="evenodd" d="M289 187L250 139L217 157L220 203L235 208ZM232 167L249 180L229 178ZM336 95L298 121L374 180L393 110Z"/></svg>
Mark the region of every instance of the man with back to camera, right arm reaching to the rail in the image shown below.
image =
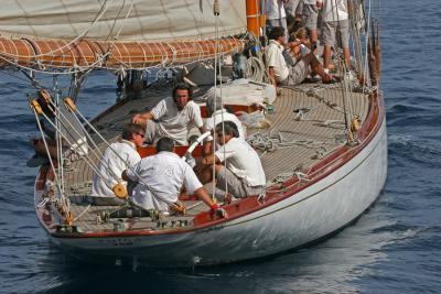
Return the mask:
<svg viewBox="0 0 441 294"><path fill-rule="evenodd" d="M181 187L184 186L187 194L196 194L212 210L218 209L192 167L173 153L173 139L161 138L155 148L155 155L142 159L122 174L122 178L138 182L132 193L136 205L143 209L170 213L170 207L178 202Z"/></svg>

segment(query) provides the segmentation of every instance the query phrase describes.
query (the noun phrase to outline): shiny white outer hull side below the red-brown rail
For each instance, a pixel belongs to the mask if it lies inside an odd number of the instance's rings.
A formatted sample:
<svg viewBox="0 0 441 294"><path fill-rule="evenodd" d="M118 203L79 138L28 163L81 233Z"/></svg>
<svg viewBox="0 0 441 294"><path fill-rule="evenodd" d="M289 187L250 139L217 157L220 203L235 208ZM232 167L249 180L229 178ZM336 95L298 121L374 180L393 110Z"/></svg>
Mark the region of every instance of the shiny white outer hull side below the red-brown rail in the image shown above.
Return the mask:
<svg viewBox="0 0 441 294"><path fill-rule="evenodd" d="M340 163L323 177L272 205L187 231L82 237L54 233L54 240L94 254L136 257L150 265L185 266L266 257L326 237L363 214L385 184L385 109L381 97L374 100L370 111L375 112L376 122L369 127L364 143L337 155L335 161Z"/></svg>

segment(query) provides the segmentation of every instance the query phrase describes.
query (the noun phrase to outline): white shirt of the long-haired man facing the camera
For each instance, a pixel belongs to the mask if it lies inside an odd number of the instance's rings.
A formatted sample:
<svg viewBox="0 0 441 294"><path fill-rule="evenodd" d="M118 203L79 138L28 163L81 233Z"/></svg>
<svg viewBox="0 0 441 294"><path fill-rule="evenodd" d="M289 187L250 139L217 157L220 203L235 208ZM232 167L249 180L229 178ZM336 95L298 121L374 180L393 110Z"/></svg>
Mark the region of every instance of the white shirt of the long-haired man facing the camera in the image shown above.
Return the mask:
<svg viewBox="0 0 441 294"><path fill-rule="evenodd" d="M197 128L204 124L201 108L192 100L180 111L173 97L168 97L159 101L150 112L159 121L159 137L170 137L182 145L187 144L187 133L192 123Z"/></svg>

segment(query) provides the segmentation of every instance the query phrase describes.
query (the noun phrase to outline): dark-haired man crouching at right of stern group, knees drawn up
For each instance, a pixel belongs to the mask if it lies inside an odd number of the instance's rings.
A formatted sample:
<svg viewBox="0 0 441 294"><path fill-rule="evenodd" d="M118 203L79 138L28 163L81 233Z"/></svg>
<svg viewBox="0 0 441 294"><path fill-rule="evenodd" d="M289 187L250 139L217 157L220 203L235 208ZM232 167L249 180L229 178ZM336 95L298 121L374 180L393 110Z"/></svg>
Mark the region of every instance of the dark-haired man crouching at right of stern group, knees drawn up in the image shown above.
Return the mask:
<svg viewBox="0 0 441 294"><path fill-rule="evenodd" d="M207 171L208 165L215 163L216 186L235 196L245 198L250 195L259 195L265 190L266 178L257 152L239 138L236 124L225 121L216 126L216 134L220 148L212 155L204 156L196 168ZM226 162L224 166L222 163ZM212 173L201 174L203 183L212 179ZM226 195L227 199L230 195Z"/></svg>

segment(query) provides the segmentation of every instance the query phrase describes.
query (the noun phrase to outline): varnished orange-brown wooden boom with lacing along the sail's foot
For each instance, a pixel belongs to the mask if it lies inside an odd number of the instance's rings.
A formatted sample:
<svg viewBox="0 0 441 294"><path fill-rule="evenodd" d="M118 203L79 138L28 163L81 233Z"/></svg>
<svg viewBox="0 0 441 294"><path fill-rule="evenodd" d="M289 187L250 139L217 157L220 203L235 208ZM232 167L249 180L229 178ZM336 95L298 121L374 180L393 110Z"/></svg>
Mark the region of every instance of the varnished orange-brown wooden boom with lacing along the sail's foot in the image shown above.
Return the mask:
<svg viewBox="0 0 441 294"><path fill-rule="evenodd" d="M244 42L219 40L220 53L243 50ZM215 41L104 42L83 40L73 44L62 40L0 37L0 67L19 64L29 67L146 68L213 58Z"/></svg>

